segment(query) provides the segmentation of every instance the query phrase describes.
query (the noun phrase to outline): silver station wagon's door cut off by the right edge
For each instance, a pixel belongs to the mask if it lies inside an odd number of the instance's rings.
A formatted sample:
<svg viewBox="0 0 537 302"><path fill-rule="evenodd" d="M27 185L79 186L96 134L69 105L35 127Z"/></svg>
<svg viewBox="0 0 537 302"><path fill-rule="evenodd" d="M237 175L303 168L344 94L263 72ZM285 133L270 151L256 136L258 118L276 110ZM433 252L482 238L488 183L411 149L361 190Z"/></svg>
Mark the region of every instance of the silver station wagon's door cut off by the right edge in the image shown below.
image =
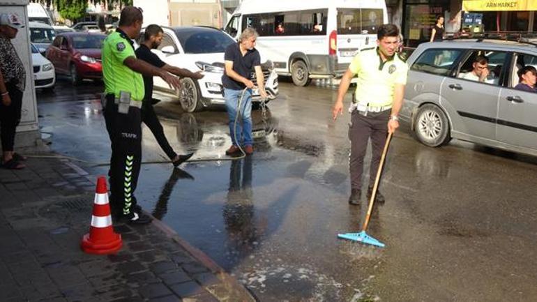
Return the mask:
<svg viewBox="0 0 537 302"><path fill-rule="evenodd" d="M498 104L497 139L514 146L537 150L537 94L514 89L518 84L513 74L524 66L537 68L537 56L517 54L511 68L510 88L501 90ZM524 65L522 65L524 64Z"/></svg>

